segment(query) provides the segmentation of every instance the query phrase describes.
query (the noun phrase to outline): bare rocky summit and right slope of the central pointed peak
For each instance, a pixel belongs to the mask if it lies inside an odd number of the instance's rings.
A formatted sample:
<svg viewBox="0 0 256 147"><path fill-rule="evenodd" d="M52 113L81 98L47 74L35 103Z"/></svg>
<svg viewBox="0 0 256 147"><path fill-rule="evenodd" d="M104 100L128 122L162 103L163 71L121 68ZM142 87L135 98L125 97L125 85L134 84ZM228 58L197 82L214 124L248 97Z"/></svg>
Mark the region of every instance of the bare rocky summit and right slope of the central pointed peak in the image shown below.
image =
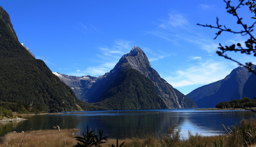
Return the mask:
<svg viewBox="0 0 256 147"><path fill-rule="evenodd" d="M122 68L130 66L149 78L154 83L157 93L164 100L168 108L196 108L196 104L192 100L159 76L157 71L151 67L148 57L141 48L135 46L131 49L130 53L122 56L114 69L117 66Z"/></svg>

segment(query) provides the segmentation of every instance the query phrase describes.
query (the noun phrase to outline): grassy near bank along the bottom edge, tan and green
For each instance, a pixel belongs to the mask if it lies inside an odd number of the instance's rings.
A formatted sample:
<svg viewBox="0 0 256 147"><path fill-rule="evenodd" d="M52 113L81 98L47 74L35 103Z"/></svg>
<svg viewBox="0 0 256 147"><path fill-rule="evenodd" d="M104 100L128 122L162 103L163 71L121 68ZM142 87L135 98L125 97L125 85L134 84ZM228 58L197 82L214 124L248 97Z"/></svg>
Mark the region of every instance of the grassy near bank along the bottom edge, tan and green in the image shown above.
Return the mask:
<svg viewBox="0 0 256 147"><path fill-rule="evenodd" d="M145 135L143 138L119 139L118 145L125 142L122 147L251 147L251 144L256 143L256 118L241 120L239 125L224 126L226 134L219 136L202 136L189 131L188 138L185 139L181 137L181 129L175 128L171 126L161 138ZM23 147L72 147L79 142L73 135L76 131L78 130L51 129L28 133L10 132L1 138L0 147L20 147L21 143ZM101 146L109 147L111 144L116 145L116 139L108 138Z"/></svg>

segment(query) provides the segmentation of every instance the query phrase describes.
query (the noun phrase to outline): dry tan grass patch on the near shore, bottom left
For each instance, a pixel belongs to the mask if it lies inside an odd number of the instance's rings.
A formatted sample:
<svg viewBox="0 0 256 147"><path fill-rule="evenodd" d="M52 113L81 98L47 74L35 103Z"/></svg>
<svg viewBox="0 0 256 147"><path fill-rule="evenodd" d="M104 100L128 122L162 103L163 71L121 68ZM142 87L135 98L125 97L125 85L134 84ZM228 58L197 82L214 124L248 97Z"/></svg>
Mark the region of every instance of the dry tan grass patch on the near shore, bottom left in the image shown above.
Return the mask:
<svg viewBox="0 0 256 147"><path fill-rule="evenodd" d="M19 147L23 140L23 147L72 147L77 141L72 132L76 129L54 129L54 130L37 130L25 133L8 133L1 138L0 147L6 147L6 143L11 147Z"/></svg>

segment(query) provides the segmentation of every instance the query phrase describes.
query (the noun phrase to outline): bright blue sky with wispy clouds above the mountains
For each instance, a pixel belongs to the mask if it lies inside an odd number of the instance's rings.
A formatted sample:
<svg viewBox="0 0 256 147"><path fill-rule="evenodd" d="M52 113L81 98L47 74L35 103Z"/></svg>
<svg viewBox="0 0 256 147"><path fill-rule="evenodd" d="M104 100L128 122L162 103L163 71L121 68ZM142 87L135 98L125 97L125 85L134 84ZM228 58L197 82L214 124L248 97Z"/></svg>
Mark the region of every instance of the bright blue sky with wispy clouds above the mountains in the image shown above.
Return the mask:
<svg viewBox="0 0 256 147"><path fill-rule="evenodd" d="M0 5L9 13L19 41L53 72L98 77L136 45L152 68L183 94L238 67L216 54L219 43L246 40L231 33L213 40L216 29L196 25L215 25L219 17L221 25L241 30L223 0L5 0ZM247 6L238 13L248 25L254 21ZM256 63L253 55L227 54Z"/></svg>

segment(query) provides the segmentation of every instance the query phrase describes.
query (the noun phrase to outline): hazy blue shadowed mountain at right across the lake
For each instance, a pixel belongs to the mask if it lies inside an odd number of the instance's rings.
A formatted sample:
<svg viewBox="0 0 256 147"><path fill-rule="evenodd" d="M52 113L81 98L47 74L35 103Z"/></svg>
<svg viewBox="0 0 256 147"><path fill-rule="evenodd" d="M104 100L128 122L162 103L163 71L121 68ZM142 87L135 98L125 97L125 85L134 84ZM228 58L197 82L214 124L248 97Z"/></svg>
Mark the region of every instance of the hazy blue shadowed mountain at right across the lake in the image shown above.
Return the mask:
<svg viewBox="0 0 256 147"><path fill-rule="evenodd" d="M253 65L253 69L255 69ZM256 76L246 67L237 67L224 79L199 87L187 97L196 102L199 108L212 108L219 102L256 97Z"/></svg>

